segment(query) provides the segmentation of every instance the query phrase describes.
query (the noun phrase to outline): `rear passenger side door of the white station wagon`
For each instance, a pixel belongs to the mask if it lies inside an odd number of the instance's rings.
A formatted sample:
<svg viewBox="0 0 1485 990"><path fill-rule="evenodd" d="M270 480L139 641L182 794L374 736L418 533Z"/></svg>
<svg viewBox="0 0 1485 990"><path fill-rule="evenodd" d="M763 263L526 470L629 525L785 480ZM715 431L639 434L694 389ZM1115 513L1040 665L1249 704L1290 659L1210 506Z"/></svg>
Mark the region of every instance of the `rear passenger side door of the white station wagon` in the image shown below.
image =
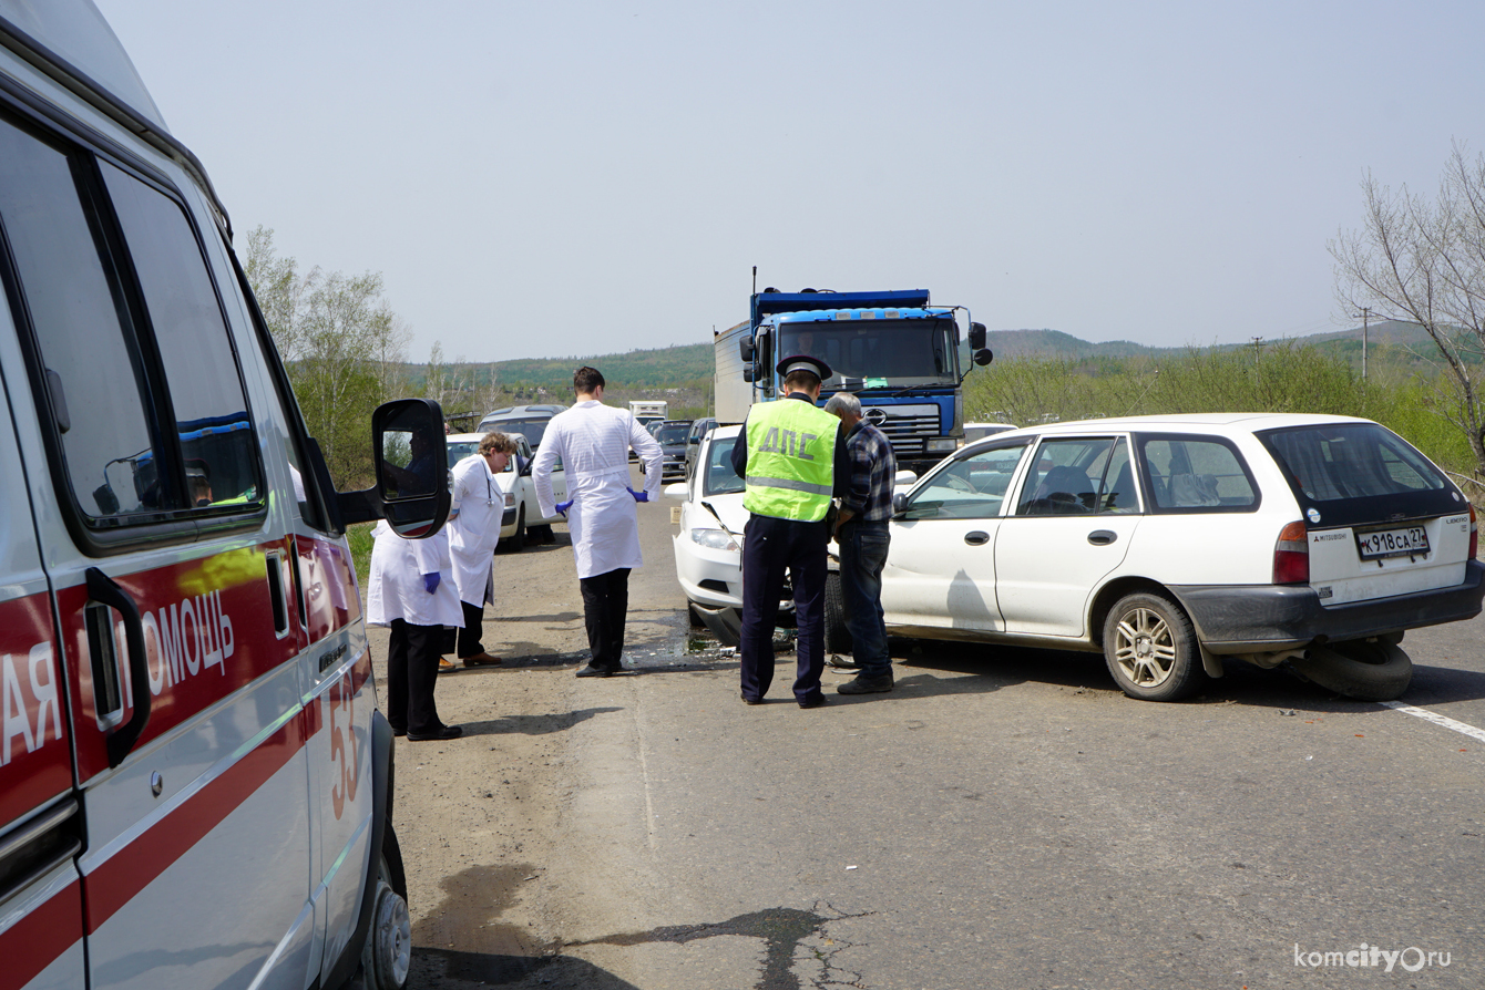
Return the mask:
<svg viewBox="0 0 1485 990"><path fill-rule="evenodd" d="M1127 436L1044 436L995 543L1005 631L1086 637L1089 600L1129 552L1140 505Z"/></svg>

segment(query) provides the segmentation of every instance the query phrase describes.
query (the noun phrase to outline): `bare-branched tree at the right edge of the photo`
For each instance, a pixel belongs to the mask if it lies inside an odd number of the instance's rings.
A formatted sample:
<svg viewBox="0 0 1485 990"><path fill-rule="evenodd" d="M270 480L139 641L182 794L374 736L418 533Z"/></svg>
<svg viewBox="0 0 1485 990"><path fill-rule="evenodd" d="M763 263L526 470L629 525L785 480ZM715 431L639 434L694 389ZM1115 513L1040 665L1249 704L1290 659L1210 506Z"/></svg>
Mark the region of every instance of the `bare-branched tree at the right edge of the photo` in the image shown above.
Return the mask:
<svg viewBox="0 0 1485 990"><path fill-rule="evenodd" d="M1485 479L1485 156L1454 147L1429 200L1396 193L1372 175L1362 183L1360 230L1342 230L1328 246L1335 258L1336 300L1347 312L1421 327L1437 349L1443 393L1435 411L1463 430Z"/></svg>

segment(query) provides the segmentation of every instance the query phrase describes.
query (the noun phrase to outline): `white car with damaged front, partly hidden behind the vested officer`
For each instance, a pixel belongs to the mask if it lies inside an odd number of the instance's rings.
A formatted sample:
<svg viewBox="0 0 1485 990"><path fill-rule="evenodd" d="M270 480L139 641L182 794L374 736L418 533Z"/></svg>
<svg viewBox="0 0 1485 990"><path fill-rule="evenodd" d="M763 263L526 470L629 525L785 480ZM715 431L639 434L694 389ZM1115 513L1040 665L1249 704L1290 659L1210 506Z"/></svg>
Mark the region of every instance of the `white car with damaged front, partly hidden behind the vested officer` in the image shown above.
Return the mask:
<svg viewBox="0 0 1485 990"><path fill-rule="evenodd" d="M741 426L723 426L699 444L698 468L665 494L685 497L680 531L673 540L676 576L691 613L723 646L737 646L742 626L742 479L732 471L732 447Z"/></svg>

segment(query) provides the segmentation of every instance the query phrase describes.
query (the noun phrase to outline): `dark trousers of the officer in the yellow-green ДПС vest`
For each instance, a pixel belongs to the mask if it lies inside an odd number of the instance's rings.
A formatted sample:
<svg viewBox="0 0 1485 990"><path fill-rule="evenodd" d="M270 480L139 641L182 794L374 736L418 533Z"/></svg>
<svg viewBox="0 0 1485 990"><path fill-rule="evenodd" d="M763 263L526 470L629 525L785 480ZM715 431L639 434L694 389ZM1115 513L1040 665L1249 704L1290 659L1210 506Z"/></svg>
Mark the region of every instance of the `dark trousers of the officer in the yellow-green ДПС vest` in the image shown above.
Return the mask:
<svg viewBox="0 0 1485 990"><path fill-rule="evenodd" d="M796 522L754 515L742 530L742 696L759 699L774 683L774 625L784 570L794 583L794 698L820 698L826 669L826 546L830 530L820 522Z"/></svg>

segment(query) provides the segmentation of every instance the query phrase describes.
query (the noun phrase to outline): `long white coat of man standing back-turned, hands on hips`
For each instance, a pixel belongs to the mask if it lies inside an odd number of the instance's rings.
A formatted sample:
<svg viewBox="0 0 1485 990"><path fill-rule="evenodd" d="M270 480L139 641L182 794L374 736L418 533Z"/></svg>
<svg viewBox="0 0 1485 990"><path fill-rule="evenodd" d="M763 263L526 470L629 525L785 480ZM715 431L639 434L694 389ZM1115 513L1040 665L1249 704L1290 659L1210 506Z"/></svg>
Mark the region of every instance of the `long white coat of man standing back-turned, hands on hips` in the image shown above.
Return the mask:
<svg viewBox="0 0 1485 990"><path fill-rule="evenodd" d="M532 468L536 503L544 517L557 512L551 472L561 457L572 499L567 530L578 577L644 566L634 496L628 491L631 447L644 462L644 491L655 502L664 454L659 442L628 411L588 399L554 416L542 433Z"/></svg>

